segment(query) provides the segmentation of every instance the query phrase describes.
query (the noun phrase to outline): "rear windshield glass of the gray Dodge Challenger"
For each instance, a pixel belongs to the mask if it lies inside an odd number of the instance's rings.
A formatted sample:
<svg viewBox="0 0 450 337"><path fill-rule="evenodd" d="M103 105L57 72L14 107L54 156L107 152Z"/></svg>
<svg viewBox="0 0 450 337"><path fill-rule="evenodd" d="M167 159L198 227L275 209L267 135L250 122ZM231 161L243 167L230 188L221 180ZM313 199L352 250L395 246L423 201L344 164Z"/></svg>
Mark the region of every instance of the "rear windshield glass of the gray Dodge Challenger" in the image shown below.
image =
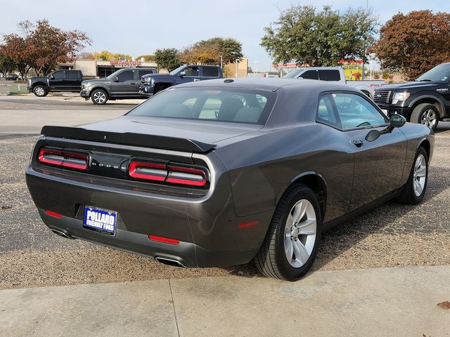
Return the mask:
<svg viewBox="0 0 450 337"><path fill-rule="evenodd" d="M265 124L276 93L241 88L169 88L129 112L166 117Z"/></svg>

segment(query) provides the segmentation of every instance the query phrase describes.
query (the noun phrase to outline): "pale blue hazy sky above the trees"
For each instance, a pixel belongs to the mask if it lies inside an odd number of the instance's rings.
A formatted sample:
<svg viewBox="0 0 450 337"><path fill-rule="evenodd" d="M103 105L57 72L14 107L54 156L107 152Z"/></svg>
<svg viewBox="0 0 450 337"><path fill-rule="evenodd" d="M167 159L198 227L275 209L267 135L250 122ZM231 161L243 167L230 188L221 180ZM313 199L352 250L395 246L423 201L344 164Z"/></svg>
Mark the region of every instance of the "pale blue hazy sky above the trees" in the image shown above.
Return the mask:
<svg viewBox="0 0 450 337"><path fill-rule="evenodd" d="M449 0L226 0L226 1L1 1L0 34L18 32L17 24L47 19L63 30L79 29L93 40L84 51L152 54L158 48L179 48L210 37L233 37L243 44L249 66L271 70L271 58L259 46L264 27L274 22L279 10L291 4L329 5L335 10L372 8L383 24L392 15L430 9L450 12ZM279 8L279 9L278 9Z"/></svg>

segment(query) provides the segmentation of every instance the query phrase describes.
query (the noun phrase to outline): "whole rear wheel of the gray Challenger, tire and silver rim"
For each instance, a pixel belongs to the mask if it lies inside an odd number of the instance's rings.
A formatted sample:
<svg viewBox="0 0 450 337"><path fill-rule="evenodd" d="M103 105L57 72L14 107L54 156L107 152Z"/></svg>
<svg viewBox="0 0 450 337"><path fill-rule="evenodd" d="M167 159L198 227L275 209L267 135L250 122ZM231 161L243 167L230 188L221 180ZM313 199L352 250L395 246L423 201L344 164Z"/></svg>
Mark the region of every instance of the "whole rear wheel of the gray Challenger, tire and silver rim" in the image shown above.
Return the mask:
<svg viewBox="0 0 450 337"><path fill-rule="evenodd" d="M296 281L316 258L320 237L316 195L305 185L290 187L276 206L255 264L267 277Z"/></svg>

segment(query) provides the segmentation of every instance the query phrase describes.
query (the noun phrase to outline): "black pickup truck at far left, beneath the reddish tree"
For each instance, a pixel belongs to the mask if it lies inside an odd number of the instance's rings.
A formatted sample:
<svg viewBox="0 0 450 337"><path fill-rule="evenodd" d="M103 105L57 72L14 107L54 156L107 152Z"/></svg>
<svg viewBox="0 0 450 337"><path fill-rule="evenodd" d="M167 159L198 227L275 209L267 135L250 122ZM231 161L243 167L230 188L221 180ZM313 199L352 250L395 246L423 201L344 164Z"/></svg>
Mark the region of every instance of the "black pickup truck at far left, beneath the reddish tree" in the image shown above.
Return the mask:
<svg viewBox="0 0 450 337"><path fill-rule="evenodd" d="M28 92L44 97L50 92L68 91L79 93L82 88L81 70L56 70L47 76L31 77L27 81Z"/></svg>

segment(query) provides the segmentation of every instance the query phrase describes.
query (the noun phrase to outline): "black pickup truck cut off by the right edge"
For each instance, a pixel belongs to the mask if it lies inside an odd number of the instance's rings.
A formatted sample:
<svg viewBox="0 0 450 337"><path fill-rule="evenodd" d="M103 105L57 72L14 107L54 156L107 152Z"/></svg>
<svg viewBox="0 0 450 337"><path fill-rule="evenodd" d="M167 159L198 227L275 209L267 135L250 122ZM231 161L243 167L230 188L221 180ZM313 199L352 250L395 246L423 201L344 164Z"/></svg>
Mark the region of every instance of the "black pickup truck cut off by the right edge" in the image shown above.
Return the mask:
<svg viewBox="0 0 450 337"><path fill-rule="evenodd" d="M374 100L388 115L401 114L435 130L439 121L450 120L450 62L437 65L416 81L378 88Z"/></svg>

